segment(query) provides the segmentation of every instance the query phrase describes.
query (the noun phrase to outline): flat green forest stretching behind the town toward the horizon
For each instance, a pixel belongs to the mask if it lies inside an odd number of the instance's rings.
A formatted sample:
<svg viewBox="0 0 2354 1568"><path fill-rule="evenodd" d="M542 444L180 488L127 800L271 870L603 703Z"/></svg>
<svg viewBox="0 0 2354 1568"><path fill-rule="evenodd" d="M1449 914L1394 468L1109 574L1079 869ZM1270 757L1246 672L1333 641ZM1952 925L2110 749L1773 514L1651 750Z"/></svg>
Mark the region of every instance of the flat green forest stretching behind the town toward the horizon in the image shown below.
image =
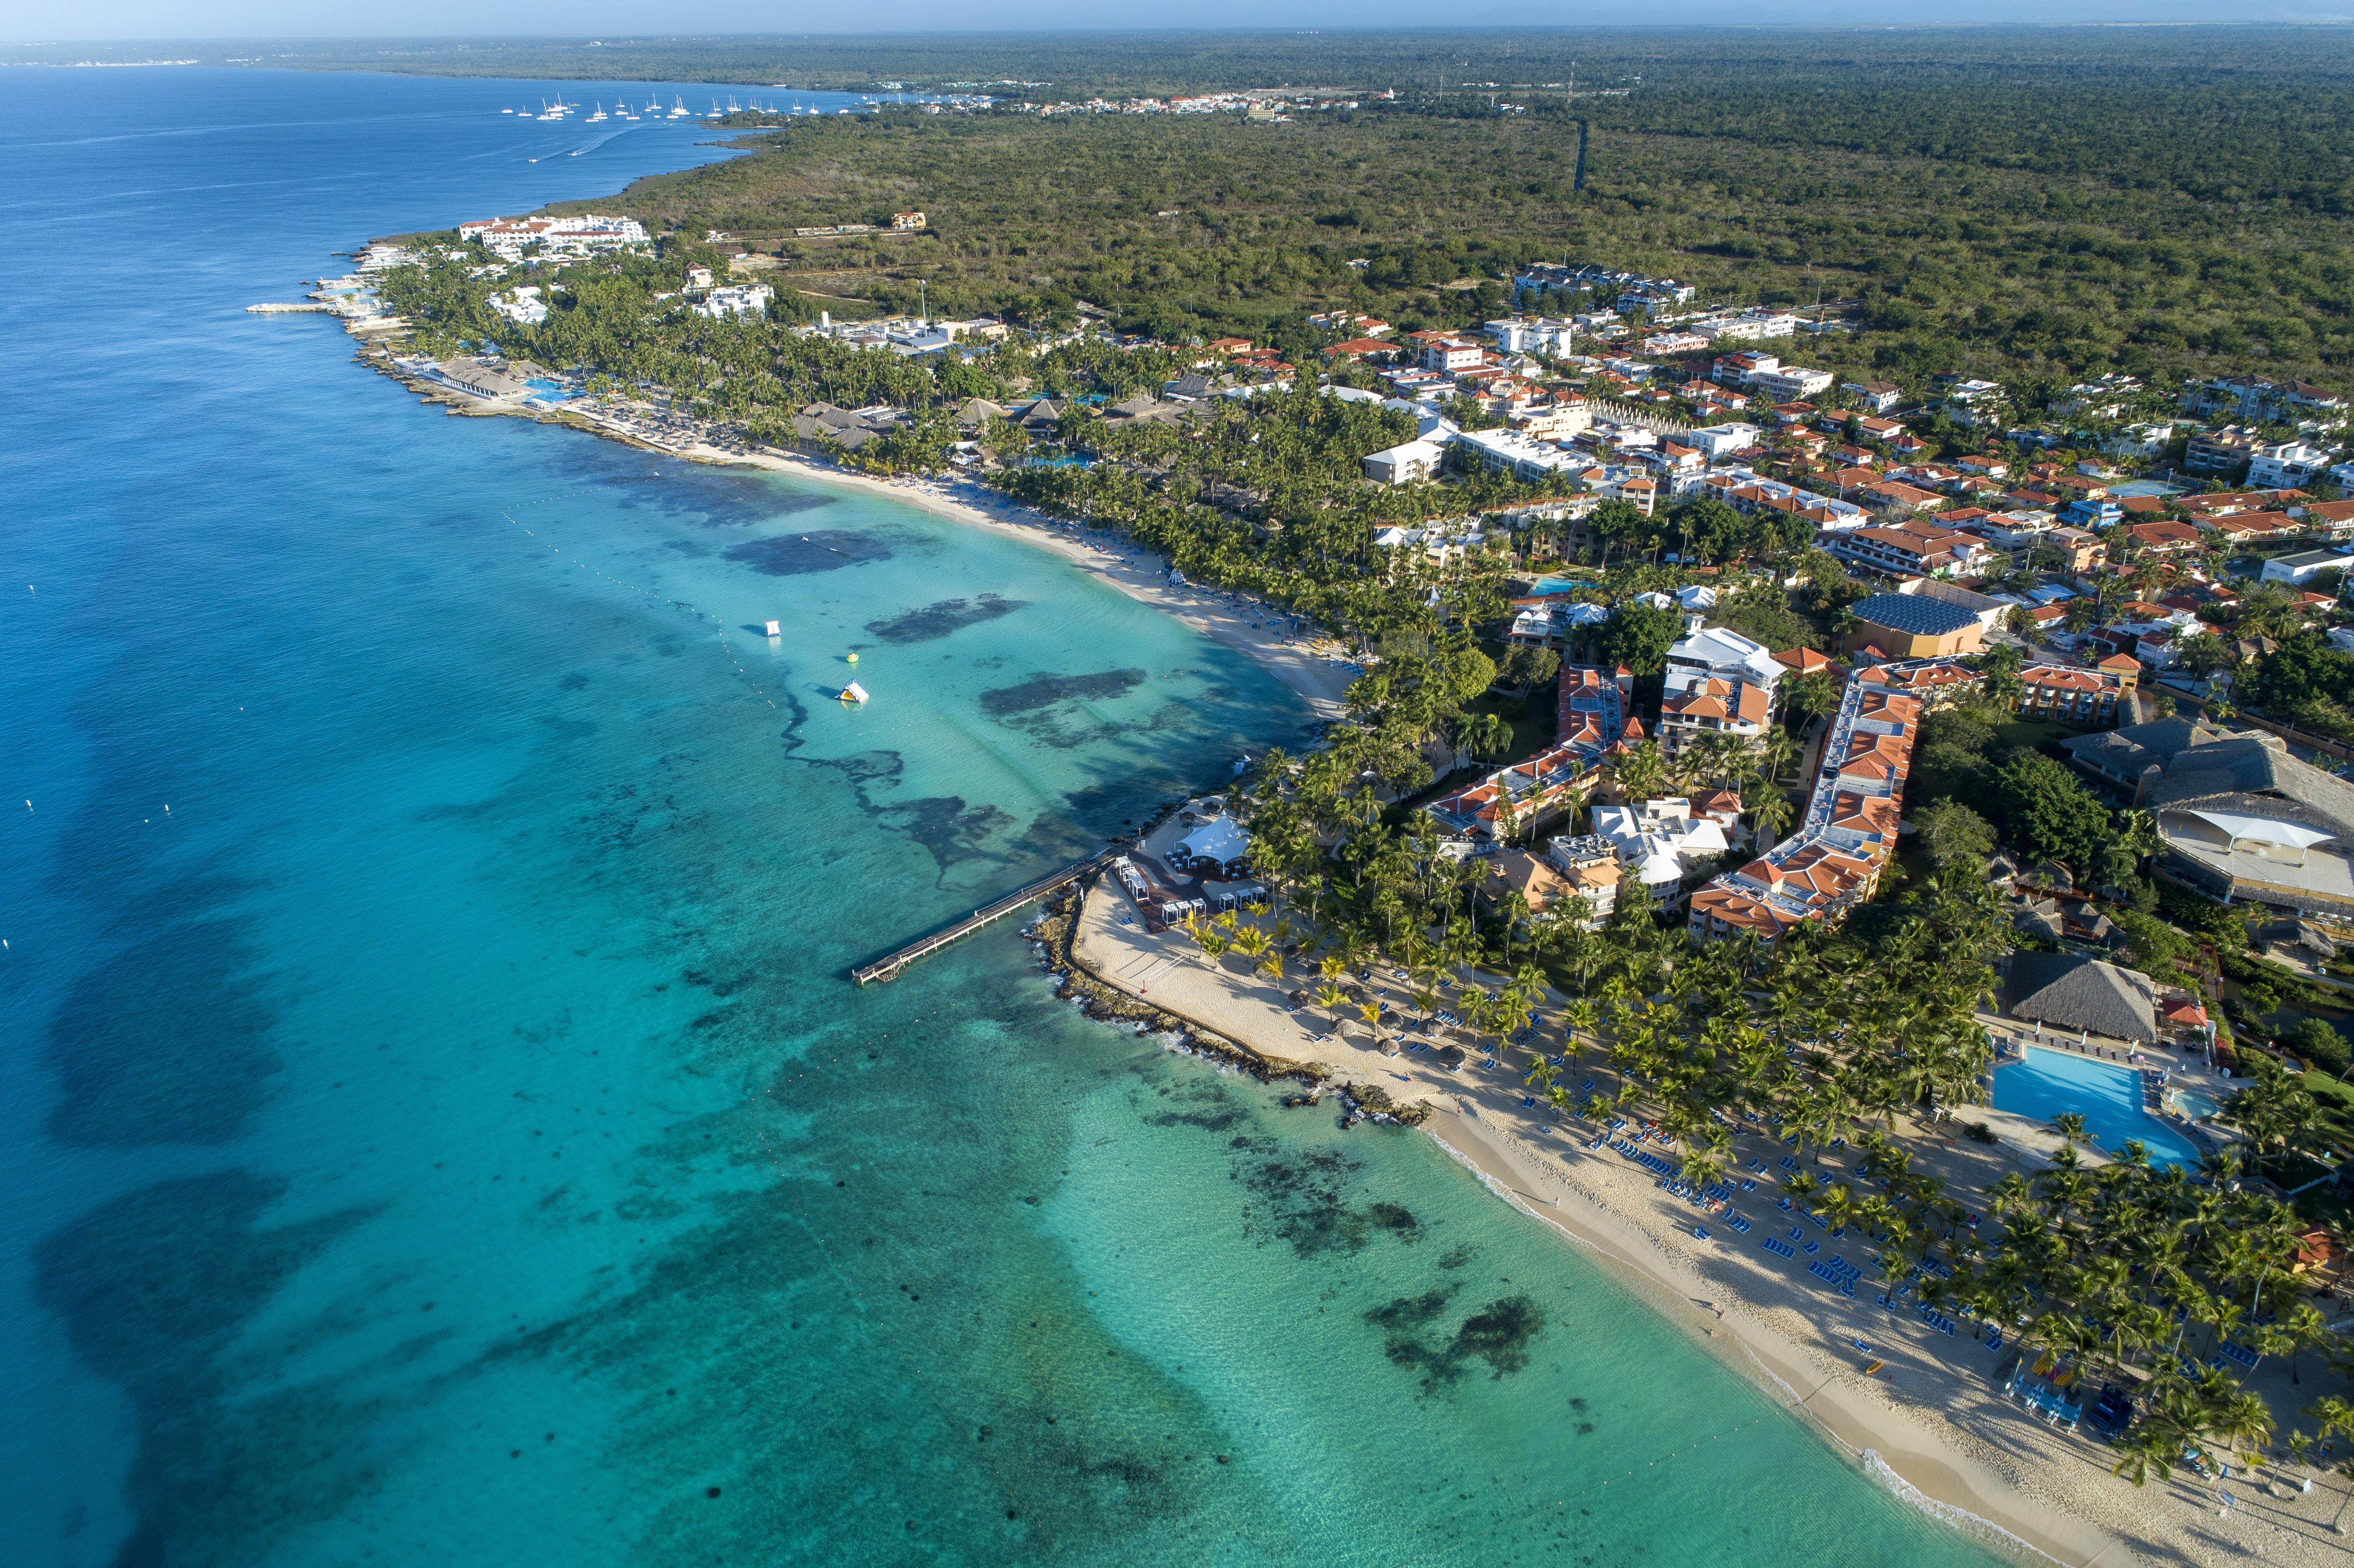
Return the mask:
<svg viewBox="0 0 2354 1568"><path fill-rule="evenodd" d="M1521 113L1495 108L1502 92L1427 87L1288 125L800 120L624 205L782 252L786 283L838 313L909 308L923 280L944 311L1029 320L1085 299L1163 337L1264 334L1328 304L1464 325L1502 308L1516 261L1575 257L1714 299L1846 304L1853 334L1791 351L1843 374L2347 381L2354 35L1836 38L1815 57L1782 33L1653 35L1650 54L1620 40L1596 49L1601 75L1641 87L1518 94ZM1332 42L1335 61L1351 47ZM1565 66L1530 45L1521 64L1537 61ZM791 238L909 207L932 233Z"/></svg>

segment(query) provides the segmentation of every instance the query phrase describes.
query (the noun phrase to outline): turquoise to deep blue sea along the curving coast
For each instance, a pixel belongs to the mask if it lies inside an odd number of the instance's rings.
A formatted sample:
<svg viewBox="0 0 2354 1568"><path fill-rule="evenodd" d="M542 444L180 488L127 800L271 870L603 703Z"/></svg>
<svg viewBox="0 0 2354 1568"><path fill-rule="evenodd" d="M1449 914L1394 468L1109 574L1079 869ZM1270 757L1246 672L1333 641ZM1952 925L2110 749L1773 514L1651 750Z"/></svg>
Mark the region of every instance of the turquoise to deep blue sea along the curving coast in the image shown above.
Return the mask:
<svg viewBox="0 0 2354 1568"><path fill-rule="evenodd" d="M0 73L0 1561L1984 1563L1427 1140L847 984L1304 713L242 313L716 155L551 92Z"/></svg>

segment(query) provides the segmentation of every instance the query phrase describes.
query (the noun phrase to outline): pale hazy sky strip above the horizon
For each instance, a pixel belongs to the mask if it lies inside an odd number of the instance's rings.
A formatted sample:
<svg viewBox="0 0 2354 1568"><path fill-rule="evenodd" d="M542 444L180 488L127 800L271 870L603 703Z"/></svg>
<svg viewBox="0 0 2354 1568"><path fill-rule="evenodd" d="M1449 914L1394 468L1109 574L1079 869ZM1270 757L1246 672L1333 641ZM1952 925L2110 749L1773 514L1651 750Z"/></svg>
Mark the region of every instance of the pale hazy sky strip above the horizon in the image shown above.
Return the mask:
<svg viewBox="0 0 2354 1568"><path fill-rule="evenodd" d="M2340 21L2354 0L1982 0L1923 14L1886 0L1664 0L1657 7L1532 5L1528 0L403 0L395 9L322 7L315 0L40 0L0 2L0 38L334 38L334 35L544 35L600 31L680 33L916 33L1040 28L1290 28L1290 26L1627 26L1794 24L1956 26L2003 21Z"/></svg>

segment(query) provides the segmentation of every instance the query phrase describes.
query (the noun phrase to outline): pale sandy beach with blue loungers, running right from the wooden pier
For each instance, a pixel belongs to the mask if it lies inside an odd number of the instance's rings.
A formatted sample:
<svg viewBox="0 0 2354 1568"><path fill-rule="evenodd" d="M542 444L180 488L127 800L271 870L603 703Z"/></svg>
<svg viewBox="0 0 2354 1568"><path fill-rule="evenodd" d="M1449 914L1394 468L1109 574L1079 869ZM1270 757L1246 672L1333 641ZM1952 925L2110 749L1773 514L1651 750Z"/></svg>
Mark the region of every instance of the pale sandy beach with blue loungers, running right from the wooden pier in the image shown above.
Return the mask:
<svg viewBox="0 0 2354 1568"><path fill-rule="evenodd" d="M1763 1236L1787 1236L1798 1224L1775 1205L1775 1182L1766 1175L1742 1172L1756 1180L1756 1191L1742 1194L1737 1212L1754 1229L1737 1236L1721 1217L1653 1187L1641 1165L1608 1147L1589 1151L1598 1132L1591 1123L1556 1121L1542 1102L1525 1107L1530 1090L1518 1071L1483 1071L1476 1057L1448 1071L1434 1059L1438 1052L1389 1055L1358 1024L1342 1031L1321 1010L1285 1012L1283 986L1297 986L1297 977L1278 986L1241 975L1238 961L1215 968L1184 932L1156 937L1121 916L1132 916L1128 897L1111 878L1099 881L1073 942L1073 958L1097 979L1262 1057L1321 1062L1339 1081L1382 1085L1398 1104L1427 1102L1434 1114L1424 1130L1497 1196L1610 1260L1669 1318L1777 1387L1846 1453L1897 1490L1919 1493L1923 1507L1966 1526L1982 1521L1970 1528L1991 1526L2013 1549L2072 1568L2349 1561L2349 1537L2328 1530L2345 1502L2342 1481L2314 1476L2312 1493L2293 1493L2302 1467L2234 1471L2227 1490L2239 1507L2227 1514L2217 1488L2189 1469L2135 1488L2109 1474L2114 1455L2090 1436L2060 1434L2003 1403L1989 1377L1999 1356L1975 1344L1968 1328L1947 1337L1909 1311L1874 1304L1864 1248L1822 1238L1827 1253L1846 1253L1867 1271L1853 1300L1810 1276L1806 1253L1789 1262L1766 1253ZM1561 1050L1558 1036L1544 1048ZM1584 1076L1572 1069L1568 1085ZM1608 1085L1608 1074L1598 1076ZM1784 1154L1782 1144L1744 1137L1735 1158L1763 1161L1780 1177ZM1947 1165L1961 1180L2008 1168L2003 1154L1975 1144L1940 1147L1919 1163ZM1695 1224L1709 1231L1707 1241L1693 1234ZM1820 1238L1815 1227L1801 1229L1803 1238ZM1869 1351L1857 1351L1855 1340ZM1881 1375L1862 1373L1869 1358L1886 1361ZM2286 1382L2281 1394L2293 1396ZM2283 1422L2295 1420L2295 1406L2281 1396L2274 1408Z"/></svg>

